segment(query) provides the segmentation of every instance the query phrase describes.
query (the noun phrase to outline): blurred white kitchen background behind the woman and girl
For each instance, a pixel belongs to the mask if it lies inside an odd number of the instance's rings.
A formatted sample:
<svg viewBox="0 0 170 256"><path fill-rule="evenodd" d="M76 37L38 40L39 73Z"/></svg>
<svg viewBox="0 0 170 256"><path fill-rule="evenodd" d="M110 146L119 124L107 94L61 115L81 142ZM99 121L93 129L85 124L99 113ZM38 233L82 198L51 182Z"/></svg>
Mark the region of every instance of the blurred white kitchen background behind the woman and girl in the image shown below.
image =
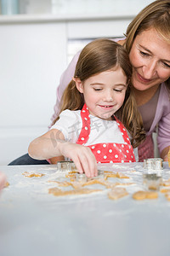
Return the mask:
<svg viewBox="0 0 170 256"><path fill-rule="evenodd" d="M48 131L56 88L94 38L122 38L149 0L1 0L0 165Z"/></svg>

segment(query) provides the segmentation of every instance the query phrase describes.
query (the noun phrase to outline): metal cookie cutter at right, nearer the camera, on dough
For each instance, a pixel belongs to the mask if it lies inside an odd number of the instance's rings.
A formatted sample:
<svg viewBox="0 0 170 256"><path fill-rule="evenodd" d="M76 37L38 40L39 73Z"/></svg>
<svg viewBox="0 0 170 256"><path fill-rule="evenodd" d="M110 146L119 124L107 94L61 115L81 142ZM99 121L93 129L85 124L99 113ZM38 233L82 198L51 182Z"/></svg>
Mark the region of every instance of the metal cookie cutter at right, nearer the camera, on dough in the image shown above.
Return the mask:
<svg viewBox="0 0 170 256"><path fill-rule="evenodd" d="M143 183L147 190L159 190L161 186L162 178L156 173L144 173Z"/></svg>

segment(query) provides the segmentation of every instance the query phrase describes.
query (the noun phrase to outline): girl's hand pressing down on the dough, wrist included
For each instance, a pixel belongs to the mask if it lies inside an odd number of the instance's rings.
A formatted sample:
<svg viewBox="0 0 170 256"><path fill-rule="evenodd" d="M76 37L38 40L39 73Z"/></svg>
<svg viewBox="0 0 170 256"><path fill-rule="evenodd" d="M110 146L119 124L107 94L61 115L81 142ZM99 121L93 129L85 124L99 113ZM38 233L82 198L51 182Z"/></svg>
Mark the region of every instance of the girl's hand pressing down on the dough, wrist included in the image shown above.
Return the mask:
<svg viewBox="0 0 170 256"><path fill-rule="evenodd" d="M63 141L59 143L59 151L65 157L73 160L78 172L85 172L87 177L98 175L97 161L90 148Z"/></svg>

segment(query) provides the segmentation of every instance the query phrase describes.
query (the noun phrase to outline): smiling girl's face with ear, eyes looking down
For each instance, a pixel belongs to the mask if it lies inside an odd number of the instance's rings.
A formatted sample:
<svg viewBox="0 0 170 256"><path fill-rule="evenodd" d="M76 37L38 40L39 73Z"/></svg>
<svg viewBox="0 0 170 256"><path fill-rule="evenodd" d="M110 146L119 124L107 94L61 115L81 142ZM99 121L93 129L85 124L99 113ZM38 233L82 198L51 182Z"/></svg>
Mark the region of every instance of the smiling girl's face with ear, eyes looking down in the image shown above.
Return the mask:
<svg viewBox="0 0 170 256"><path fill-rule="evenodd" d="M75 79L77 90L83 93L89 113L101 119L111 116L122 107L127 90L127 77L121 67L98 73L83 83Z"/></svg>

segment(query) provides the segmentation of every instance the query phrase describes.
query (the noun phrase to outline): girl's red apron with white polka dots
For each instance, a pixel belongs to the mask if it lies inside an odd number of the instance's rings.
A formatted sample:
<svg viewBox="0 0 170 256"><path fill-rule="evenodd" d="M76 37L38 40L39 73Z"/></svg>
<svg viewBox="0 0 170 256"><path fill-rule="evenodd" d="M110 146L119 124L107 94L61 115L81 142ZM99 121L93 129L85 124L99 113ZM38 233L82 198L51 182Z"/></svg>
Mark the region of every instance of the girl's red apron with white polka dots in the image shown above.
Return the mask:
<svg viewBox="0 0 170 256"><path fill-rule="evenodd" d="M82 111L82 131L77 140L77 144L84 145L88 142L90 134L90 118L86 104L84 104ZM116 119L116 117L115 117ZM133 147L127 135L127 131L122 125L122 122L116 119L116 123L122 132L122 137L125 143L97 143L87 146L90 148L99 163L124 163L135 162Z"/></svg>

